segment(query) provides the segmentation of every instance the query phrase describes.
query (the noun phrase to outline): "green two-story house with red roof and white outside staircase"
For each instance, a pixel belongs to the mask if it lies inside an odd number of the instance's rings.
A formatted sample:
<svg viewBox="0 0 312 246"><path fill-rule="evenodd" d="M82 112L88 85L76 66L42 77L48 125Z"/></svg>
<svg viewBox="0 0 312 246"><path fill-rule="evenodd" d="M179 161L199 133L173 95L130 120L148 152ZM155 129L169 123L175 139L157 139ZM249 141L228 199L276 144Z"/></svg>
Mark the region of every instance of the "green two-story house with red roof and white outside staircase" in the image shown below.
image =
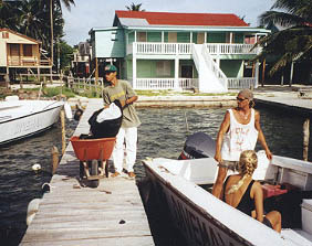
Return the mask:
<svg viewBox="0 0 312 246"><path fill-rule="evenodd" d="M227 92L257 87L257 40L270 31L235 14L116 11L90 31L93 60L114 63L135 89Z"/></svg>

